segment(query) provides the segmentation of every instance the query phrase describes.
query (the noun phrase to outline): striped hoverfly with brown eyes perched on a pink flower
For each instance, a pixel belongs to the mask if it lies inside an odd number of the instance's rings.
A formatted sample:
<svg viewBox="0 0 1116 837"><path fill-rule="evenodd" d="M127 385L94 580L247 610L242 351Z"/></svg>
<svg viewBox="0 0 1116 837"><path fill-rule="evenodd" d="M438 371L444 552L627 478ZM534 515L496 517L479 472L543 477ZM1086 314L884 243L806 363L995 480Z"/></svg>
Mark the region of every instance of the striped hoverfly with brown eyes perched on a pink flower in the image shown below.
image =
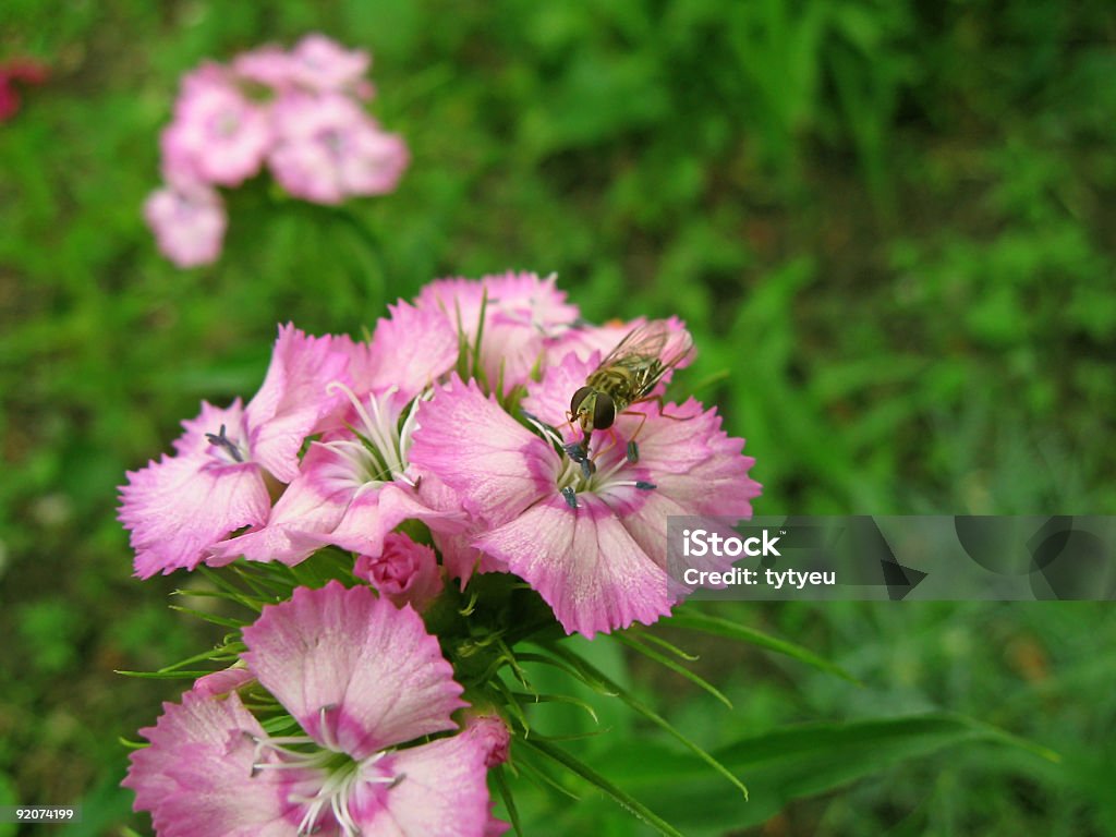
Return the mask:
<svg viewBox="0 0 1116 837"><path fill-rule="evenodd" d="M589 437L593 432L608 430L616 416L629 406L650 401L647 396L663 376L690 358L693 340L685 333L682 341L671 348L670 355L663 356L668 336L664 320L653 320L632 329L586 378L585 386L574 393L567 419L570 424L577 422L580 425L584 437L580 442L566 445L566 453L581 464L583 471L593 470L589 462ZM646 421L646 416L642 417ZM639 458L635 437L642 427L643 422L628 442L629 462L636 462Z"/></svg>

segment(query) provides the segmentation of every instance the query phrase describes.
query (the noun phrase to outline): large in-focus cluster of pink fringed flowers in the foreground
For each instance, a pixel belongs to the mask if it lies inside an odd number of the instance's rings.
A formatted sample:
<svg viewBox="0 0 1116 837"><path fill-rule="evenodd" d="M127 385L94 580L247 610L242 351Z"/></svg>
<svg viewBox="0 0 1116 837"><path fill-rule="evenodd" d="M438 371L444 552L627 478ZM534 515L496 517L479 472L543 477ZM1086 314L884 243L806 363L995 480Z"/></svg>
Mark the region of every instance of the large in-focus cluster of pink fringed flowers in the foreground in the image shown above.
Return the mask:
<svg viewBox="0 0 1116 837"><path fill-rule="evenodd" d="M174 454L121 489L142 578L294 566L330 546L352 552L357 585L266 608L244 667L199 681L145 731L127 781L161 834L499 833L478 766L507 757L502 721L395 749L456 729L463 705L421 614L451 583L502 573L567 633L651 624L685 594L667 518L751 514L743 441L693 398L633 404L594 436L591 466L571 455L571 395L642 320L585 325L533 273L435 281L389 314L368 341L281 327L256 396L203 403ZM679 320L656 325L689 345ZM230 692L248 681L297 734L264 733Z"/></svg>

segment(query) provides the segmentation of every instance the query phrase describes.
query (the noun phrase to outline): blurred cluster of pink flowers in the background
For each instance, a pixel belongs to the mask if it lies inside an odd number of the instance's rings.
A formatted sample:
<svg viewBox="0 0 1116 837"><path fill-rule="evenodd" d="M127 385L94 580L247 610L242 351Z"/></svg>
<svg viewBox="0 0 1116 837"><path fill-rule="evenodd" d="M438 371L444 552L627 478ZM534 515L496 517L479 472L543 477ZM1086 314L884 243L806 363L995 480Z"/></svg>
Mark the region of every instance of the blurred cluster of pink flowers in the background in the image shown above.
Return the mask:
<svg viewBox="0 0 1116 837"><path fill-rule="evenodd" d="M162 136L166 185L144 206L160 250L180 267L214 261L228 218L219 186L264 164L289 194L336 204L395 189L408 155L364 109L371 58L321 35L267 46L187 74Z"/></svg>

